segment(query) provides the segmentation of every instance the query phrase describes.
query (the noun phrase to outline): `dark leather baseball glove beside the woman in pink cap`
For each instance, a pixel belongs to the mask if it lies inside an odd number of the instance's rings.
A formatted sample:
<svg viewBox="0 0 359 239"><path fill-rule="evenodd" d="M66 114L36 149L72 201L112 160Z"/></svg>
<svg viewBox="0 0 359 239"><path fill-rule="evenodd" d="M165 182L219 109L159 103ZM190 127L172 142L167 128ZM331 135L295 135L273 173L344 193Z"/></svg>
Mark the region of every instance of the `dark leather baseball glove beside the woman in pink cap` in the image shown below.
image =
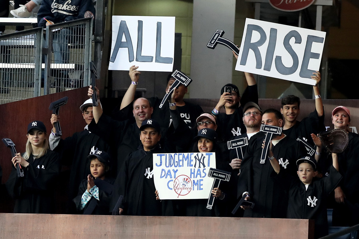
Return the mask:
<svg viewBox="0 0 359 239"><path fill-rule="evenodd" d="M341 153L348 146L349 137L343 129L333 129L318 134L325 148L331 153Z"/></svg>

